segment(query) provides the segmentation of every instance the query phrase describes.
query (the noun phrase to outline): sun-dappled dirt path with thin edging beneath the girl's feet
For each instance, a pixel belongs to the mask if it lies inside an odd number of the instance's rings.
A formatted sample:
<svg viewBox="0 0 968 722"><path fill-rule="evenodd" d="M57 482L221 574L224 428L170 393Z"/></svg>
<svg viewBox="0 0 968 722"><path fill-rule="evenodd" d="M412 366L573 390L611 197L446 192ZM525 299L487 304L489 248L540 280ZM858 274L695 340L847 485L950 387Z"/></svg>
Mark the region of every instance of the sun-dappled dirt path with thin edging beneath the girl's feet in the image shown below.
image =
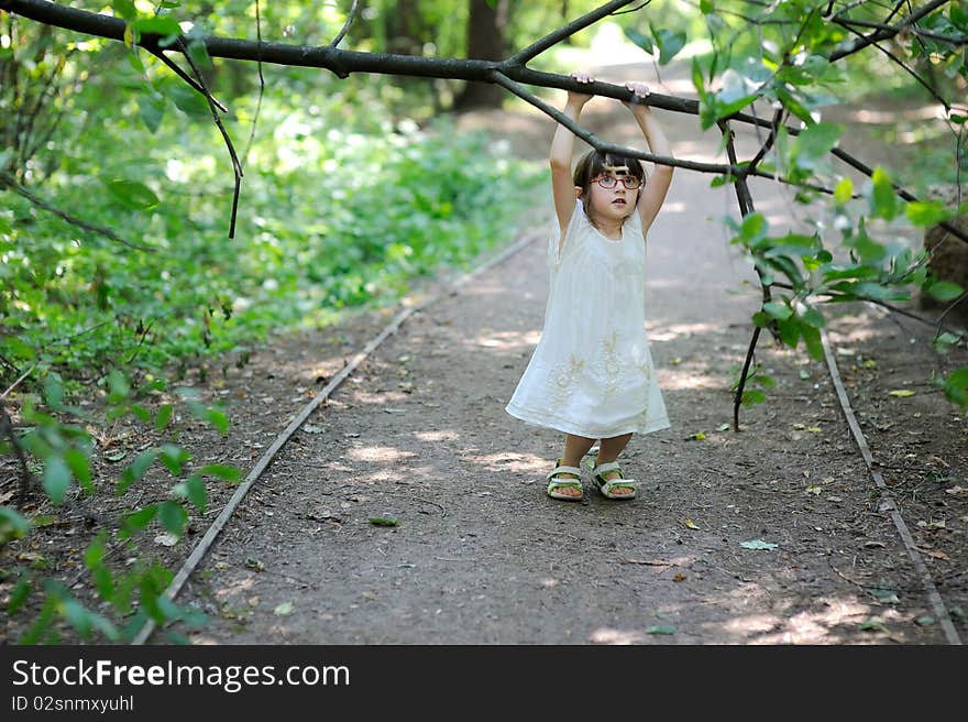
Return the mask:
<svg viewBox="0 0 968 722"><path fill-rule="evenodd" d="M613 105L596 101L593 125L627 117ZM678 155L712 156L691 122L662 119ZM619 130L609 138L634 136ZM782 217L781 196L755 194ZM744 412L740 434L721 430L756 308L754 292L730 293L751 280L718 222L733 209L725 189L679 172L650 233L650 338L673 427L625 455L640 499L548 499L560 435L504 412L541 328L542 236L416 314L310 418L183 590L210 615L185 633L217 644L945 644L822 364L765 348L772 401ZM289 339L231 373L222 393L245 390L232 413L250 409L249 453L385 321ZM862 341L849 333L861 328L832 338L856 357L849 343ZM894 341L878 354L905 351ZM871 382L847 372L854 387ZM926 404L919 423L938 413L948 426L935 456L949 481L964 479L960 419ZM960 504L945 513L963 548L966 502L939 499ZM743 546L757 540L769 548ZM964 556L926 556L928 569L948 580L945 601L968 609Z"/></svg>

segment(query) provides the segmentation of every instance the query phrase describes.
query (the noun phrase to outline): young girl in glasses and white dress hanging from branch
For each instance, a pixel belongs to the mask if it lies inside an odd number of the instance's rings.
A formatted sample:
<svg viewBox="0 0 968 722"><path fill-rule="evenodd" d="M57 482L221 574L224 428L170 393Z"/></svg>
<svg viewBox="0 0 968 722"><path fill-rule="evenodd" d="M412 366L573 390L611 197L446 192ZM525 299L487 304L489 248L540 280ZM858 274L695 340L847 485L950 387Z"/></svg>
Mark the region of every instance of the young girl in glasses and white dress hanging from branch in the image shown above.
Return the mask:
<svg viewBox="0 0 968 722"><path fill-rule="evenodd" d="M572 75L591 83L585 73ZM671 156L669 141L628 83L630 108L652 153ZM564 114L578 122L592 96L569 92ZM666 199L672 168L647 178L630 157L587 153L570 172L574 135L558 125L551 142L551 186L559 228L549 245L551 288L544 329L507 405L512 416L563 431L564 452L548 474L548 495L581 501L580 469L596 440L592 481L608 499L630 500L635 479L616 459L632 434L668 428L646 337L646 232Z"/></svg>

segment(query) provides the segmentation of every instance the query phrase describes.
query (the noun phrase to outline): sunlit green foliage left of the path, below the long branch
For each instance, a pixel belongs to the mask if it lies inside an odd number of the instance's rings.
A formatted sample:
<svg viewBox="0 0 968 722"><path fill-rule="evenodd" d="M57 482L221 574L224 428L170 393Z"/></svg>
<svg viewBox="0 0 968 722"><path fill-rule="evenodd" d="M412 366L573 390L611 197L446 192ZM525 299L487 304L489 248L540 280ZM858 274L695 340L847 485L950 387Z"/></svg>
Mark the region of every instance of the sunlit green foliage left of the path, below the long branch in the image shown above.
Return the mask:
<svg viewBox="0 0 968 722"><path fill-rule="evenodd" d="M234 7L244 17L250 3ZM293 10L267 9L268 24L307 19L289 18ZM314 32L338 28L331 10ZM202 621L163 595L172 572L140 545L152 530L182 537L208 508L211 484L241 474L196 464L178 445L183 416L220 434L229 419L163 379L270 330L326 325L465 266L508 238L541 179L483 134L458 135L446 119L422 129L400 120L384 102L386 83L285 70L262 100L229 240L232 174L208 103L134 46L139 32L177 25L140 17L130 2L116 11L132 21L128 48L34 25L8 32L13 44L0 57L4 73L50 77L52 89L37 101L45 122L33 133L19 130L26 111L16 86L0 89L0 131L16 139L0 157L0 383L20 382L18 442L43 492L21 508L0 506L0 547L19 550L0 581L8 614L36 612L19 639L29 644L119 642L148 619ZM232 98L230 133L245 138L257 100L235 97L233 86L251 94L251 80L198 52L195 59L213 92ZM56 133L45 113L57 116ZM102 436L121 423L157 442L129 459ZM124 466L107 479L96 457L102 468ZM164 492L142 501L147 488ZM57 510L106 495L121 511L84 550L76 584L24 551ZM118 551L133 564L119 564Z"/></svg>

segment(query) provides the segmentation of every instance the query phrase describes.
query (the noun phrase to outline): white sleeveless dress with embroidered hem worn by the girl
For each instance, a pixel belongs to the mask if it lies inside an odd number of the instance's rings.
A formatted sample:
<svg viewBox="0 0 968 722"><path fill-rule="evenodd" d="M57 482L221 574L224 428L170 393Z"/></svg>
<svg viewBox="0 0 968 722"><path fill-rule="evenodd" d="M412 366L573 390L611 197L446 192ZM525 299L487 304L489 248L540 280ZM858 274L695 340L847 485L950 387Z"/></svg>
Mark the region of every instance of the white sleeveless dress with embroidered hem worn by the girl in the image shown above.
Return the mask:
<svg viewBox="0 0 968 722"><path fill-rule="evenodd" d="M646 336L646 240L638 212L613 241L579 200L560 254L559 233L556 223L544 329L507 413L592 439L668 428Z"/></svg>

